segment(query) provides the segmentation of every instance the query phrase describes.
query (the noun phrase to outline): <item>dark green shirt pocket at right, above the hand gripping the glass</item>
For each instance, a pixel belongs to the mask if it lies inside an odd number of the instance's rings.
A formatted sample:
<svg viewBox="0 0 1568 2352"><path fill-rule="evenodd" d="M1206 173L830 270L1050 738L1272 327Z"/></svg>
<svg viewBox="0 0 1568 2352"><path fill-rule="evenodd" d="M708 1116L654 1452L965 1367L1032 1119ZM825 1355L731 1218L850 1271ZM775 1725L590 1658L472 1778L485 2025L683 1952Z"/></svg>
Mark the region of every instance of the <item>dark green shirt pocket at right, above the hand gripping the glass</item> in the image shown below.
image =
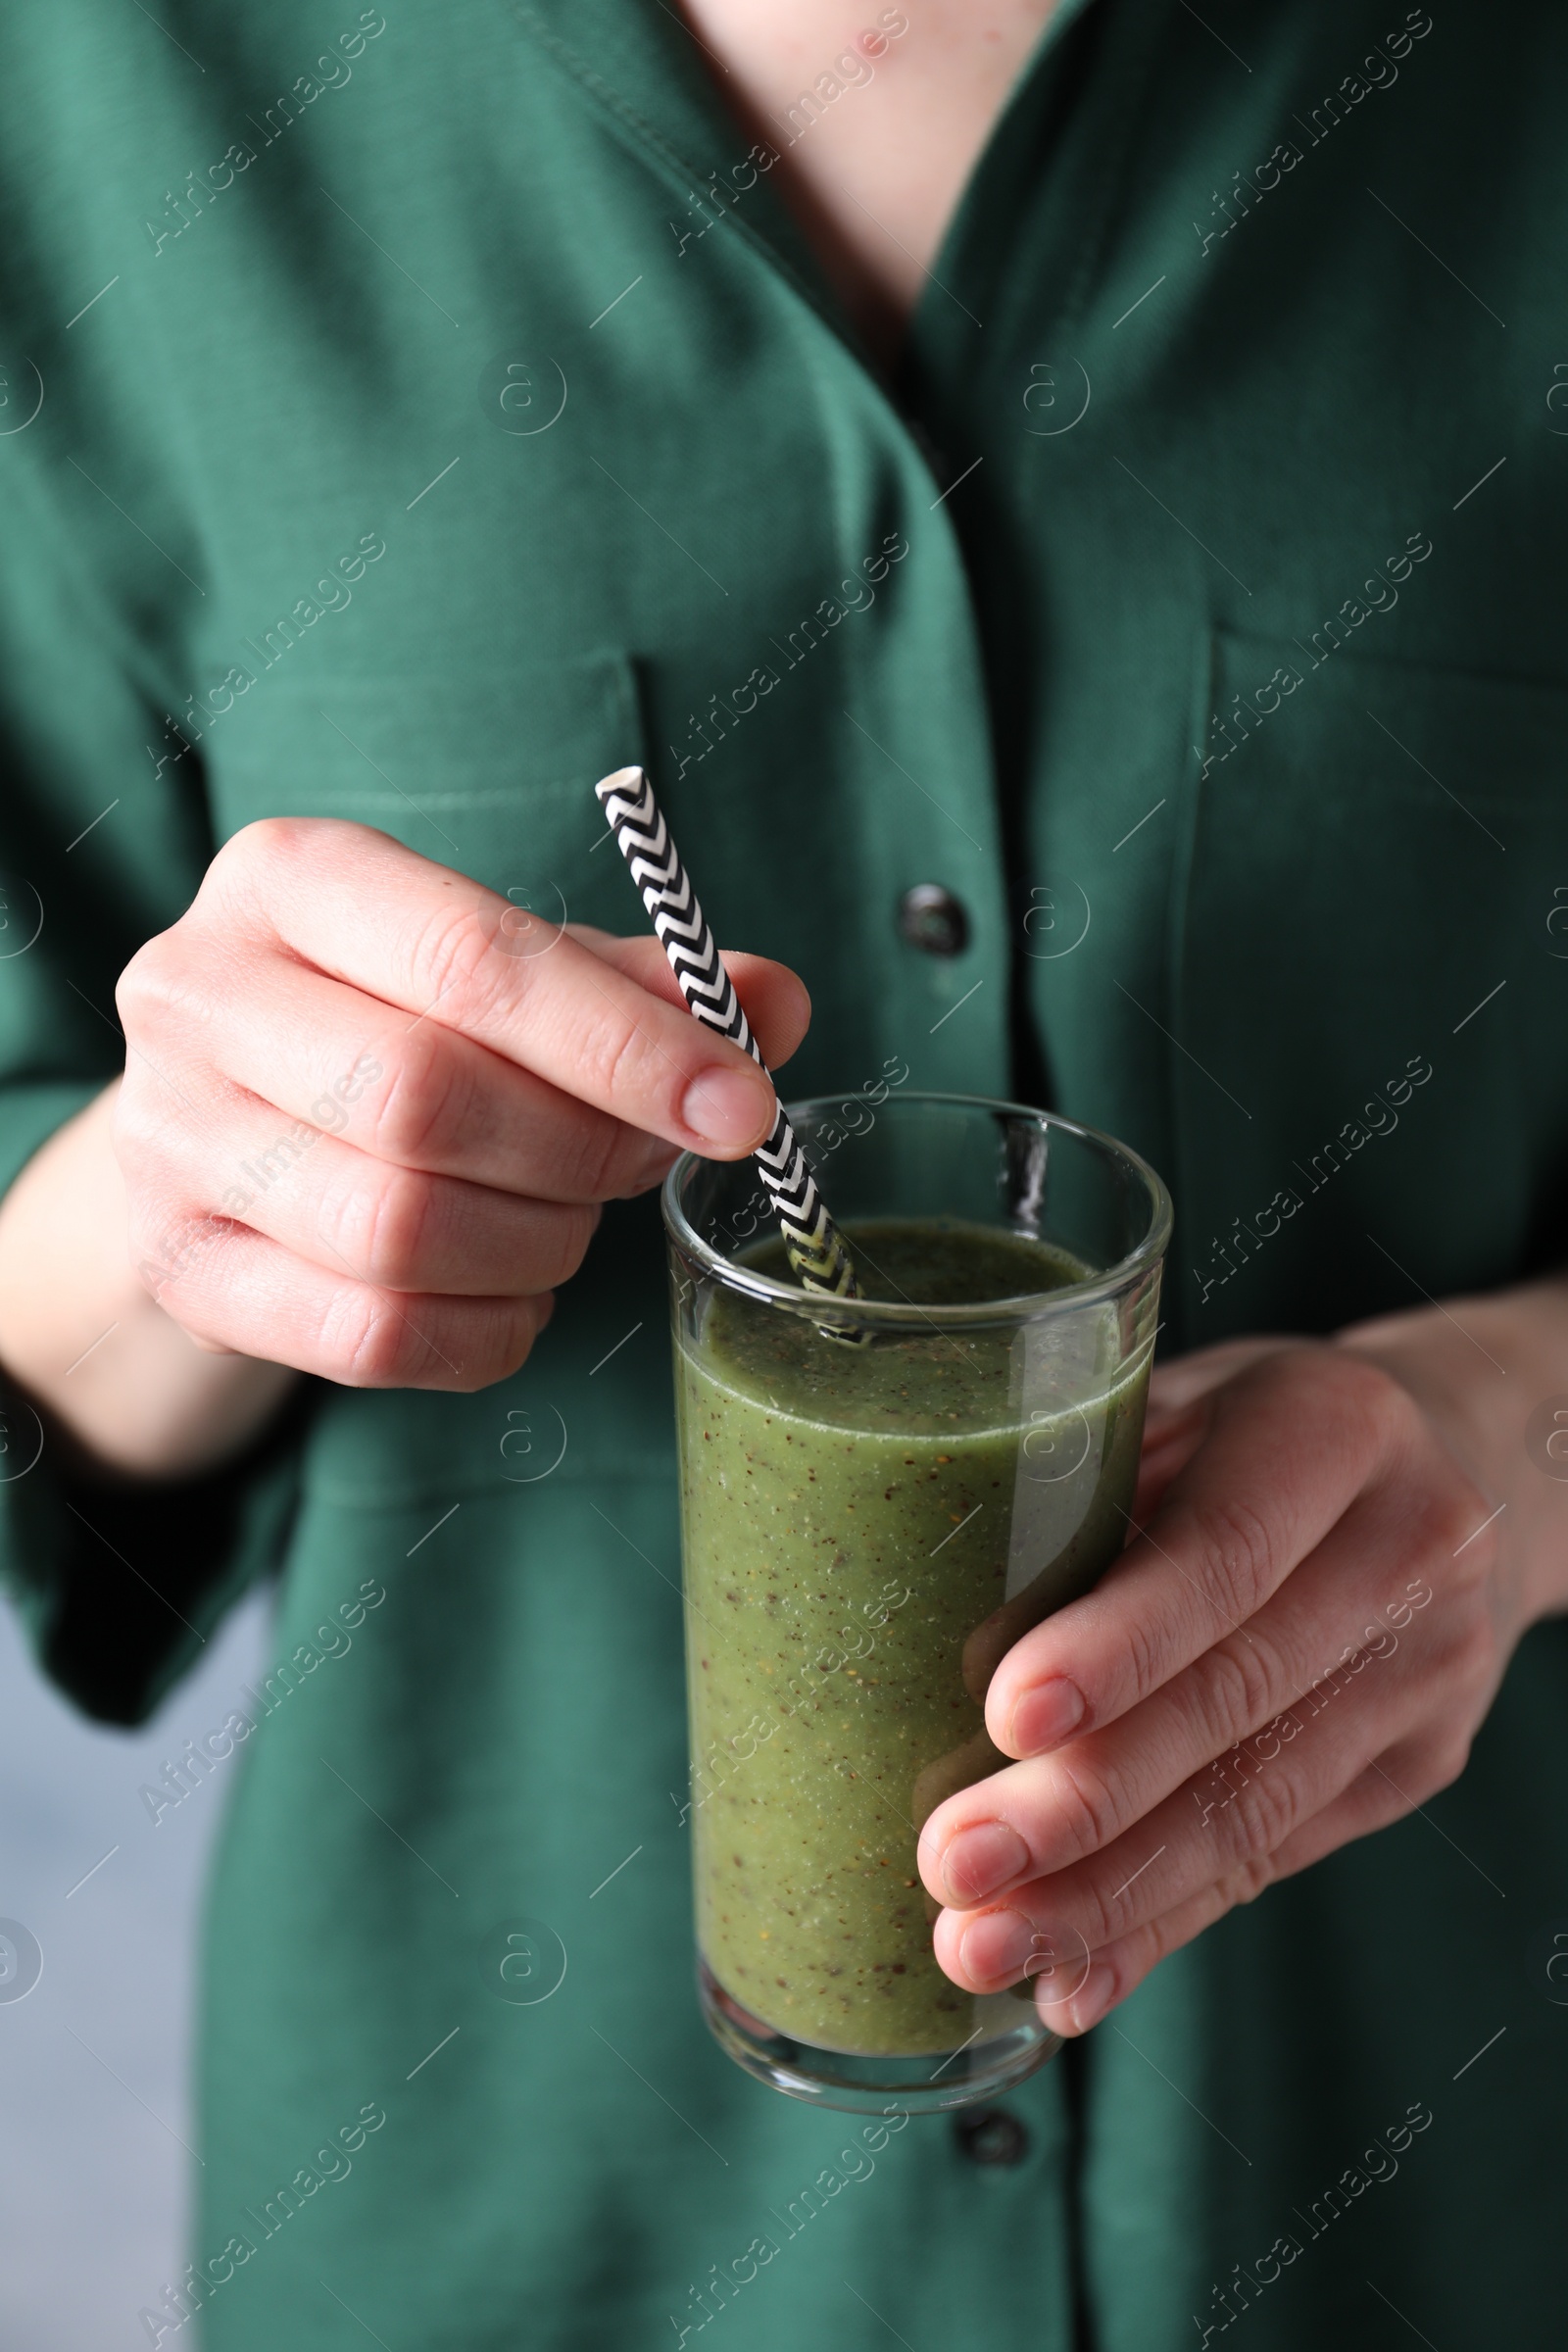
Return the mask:
<svg viewBox="0 0 1568 2352"><path fill-rule="evenodd" d="M1194 703L1168 1056L1185 1343L1561 1258L1568 689L1215 633Z"/></svg>

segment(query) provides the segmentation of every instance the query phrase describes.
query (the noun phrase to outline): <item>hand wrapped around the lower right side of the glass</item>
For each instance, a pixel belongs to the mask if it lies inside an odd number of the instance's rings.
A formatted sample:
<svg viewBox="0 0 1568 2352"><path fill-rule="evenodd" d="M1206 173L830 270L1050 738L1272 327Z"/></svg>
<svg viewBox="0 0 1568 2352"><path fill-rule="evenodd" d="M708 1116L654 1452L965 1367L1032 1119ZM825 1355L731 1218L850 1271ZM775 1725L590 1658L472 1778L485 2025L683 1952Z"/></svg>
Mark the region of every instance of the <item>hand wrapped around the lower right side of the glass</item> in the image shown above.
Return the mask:
<svg viewBox="0 0 1568 2352"><path fill-rule="evenodd" d="M1561 1350L1561 1294L1516 1296ZM1234 1903L1458 1778L1523 1625L1563 1595L1521 1573L1488 1491L1512 1446L1535 1477L1512 1418L1540 1388L1486 1348L1467 1367L1469 1327L1439 1315L1154 1376L1140 1534L997 1668L985 1719L1020 1762L922 1830L957 1985L1037 1976L1046 2023L1084 2032ZM1483 1486L1465 1463L1488 1454L1507 1475Z"/></svg>

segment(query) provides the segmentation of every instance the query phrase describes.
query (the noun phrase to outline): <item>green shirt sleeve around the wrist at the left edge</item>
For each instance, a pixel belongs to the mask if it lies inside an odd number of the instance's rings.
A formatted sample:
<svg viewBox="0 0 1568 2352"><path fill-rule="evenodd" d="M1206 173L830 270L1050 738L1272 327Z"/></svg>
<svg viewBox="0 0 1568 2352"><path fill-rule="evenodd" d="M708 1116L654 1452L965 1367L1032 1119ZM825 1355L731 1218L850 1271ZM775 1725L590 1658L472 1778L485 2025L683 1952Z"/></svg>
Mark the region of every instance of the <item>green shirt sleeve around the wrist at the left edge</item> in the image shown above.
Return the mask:
<svg viewBox="0 0 1568 2352"><path fill-rule="evenodd" d="M12 367L0 426L26 407ZM167 722L158 550L45 419L0 435L0 506L2 1190L120 1073L115 978L190 903L214 842L197 755ZM26 1397L0 1397L0 1585L80 1708L146 1717L277 1562L306 1397L221 1475L167 1486L82 1479Z"/></svg>

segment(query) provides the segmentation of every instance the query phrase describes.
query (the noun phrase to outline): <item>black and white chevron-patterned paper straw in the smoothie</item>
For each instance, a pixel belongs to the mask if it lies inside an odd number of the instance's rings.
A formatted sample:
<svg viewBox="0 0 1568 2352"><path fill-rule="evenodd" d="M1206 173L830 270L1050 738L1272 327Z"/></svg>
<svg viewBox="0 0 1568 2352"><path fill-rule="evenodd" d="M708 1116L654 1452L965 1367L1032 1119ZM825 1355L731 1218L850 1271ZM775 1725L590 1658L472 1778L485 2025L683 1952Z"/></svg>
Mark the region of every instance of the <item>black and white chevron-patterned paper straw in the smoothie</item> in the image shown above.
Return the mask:
<svg viewBox="0 0 1568 2352"><path fill-rule="evenodd" d="M670 969L679 981L689 1011L708 1028L719 1030L722 1037L733 1037L757 1068L766 1068L750 1021L741 1009L741 997L719 962L712 931L696 903L691 875L682 866L663 809L654 800L646 771L639 767L618 767L614 776L595 783L595 793L616 830L621 856L642 891L642 903L670 957ZM783 1228L790 1265L802 1284L809 1291L825 1291L835 1298L858 1298L860 1284L856 1282L844 1235L823 1207L816 1176L783 1112L783 1103L773 1120L773 1134L766 1143L757 1145L757 1169ZM851 1338L858 1334L835 1331L832 1336Z"/></svg>

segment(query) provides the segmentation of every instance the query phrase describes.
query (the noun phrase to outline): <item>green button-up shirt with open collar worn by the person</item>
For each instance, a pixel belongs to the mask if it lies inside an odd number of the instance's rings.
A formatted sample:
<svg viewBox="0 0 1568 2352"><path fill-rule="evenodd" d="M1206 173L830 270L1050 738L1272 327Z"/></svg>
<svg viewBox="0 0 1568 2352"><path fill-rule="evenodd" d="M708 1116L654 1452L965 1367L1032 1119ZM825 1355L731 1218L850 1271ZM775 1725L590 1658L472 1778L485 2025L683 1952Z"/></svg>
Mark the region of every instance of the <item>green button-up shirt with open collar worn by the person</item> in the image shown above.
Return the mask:
<svg viewBox="0 0 1568 2352"><path fill-rule="evenodd" d="M797 1091L1044 1091L1154 1160L1168 1341L1561 1258L1566 49L1063 5L891 381L651 0L14 9L0 1174L240 826L637 929L590 783L644 760L813 993ZM961 953L900 934L922 882ZM313 1383L94 1498L113 1550L47 1446L0 1484L110 1719L280 1569L205 1743L186 2340L1552 2340L1561 1628L1450 1792L1011 2093L1018 2161L872 2147L696 2016L665 1348L644 1202L484 1395Z"/></svg>

